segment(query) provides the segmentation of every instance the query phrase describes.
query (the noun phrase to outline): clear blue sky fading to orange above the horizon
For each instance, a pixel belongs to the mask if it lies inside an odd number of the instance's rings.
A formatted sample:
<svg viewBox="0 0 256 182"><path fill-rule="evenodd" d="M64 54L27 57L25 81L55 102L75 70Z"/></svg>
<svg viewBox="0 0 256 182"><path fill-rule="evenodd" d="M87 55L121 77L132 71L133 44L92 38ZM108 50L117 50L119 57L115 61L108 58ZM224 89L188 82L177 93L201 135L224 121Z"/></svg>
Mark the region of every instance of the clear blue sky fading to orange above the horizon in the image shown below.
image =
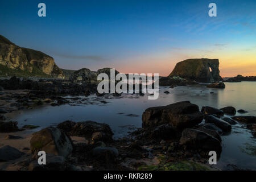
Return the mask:
<svg viewBox="0 0 256 182"><path fill-rule="evenodd" d="M222 77L256 76L255 0L1 0L0 35L64 69L167 76L177 62L204 57L220 60Z"/></svg>

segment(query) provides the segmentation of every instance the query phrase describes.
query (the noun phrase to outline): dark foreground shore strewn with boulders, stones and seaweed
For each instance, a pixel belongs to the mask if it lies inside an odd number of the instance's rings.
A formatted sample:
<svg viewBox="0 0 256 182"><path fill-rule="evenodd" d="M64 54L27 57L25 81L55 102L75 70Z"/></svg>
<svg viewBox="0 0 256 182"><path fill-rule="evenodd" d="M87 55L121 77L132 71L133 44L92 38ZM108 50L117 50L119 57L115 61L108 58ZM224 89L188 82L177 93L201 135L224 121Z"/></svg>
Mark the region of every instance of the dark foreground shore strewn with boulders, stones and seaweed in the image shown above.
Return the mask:
<svg viewBox="0 0 256 182"><path fill-rule="evenodd" d="M232 125L240 122L255 136L256 117L228 118L224 113L234 115L236 109L205 106L200 110L189 101L150 107L142 114L142 128L117 140L105 123L64 121L24 137L27 147L21 151L8 144L1 146L0 160L8 159L2 169L218 170L209 166L208 152L221 155L222 134L230 133ZM23 140L15 133L24 131L16 122L0 122L7 143ZM39 150L48 154L46 166L37 163Z"/></svg>

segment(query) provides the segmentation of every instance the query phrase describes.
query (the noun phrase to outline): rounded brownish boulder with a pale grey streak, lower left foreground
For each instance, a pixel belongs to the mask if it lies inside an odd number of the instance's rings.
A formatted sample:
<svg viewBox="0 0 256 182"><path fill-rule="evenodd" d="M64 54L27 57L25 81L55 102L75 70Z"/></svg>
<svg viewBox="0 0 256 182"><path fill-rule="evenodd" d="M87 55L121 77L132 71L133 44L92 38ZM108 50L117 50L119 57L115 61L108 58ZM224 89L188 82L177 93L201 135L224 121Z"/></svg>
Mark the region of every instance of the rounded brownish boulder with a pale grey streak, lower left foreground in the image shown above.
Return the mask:
<svg viewBox="0 0 256 182"><path fill-rule="evenodd" d="M33 134L30 140L33 153L45 151L47 154L68 156L73 150L72 141L55 127L47 127Z"/></svg>

